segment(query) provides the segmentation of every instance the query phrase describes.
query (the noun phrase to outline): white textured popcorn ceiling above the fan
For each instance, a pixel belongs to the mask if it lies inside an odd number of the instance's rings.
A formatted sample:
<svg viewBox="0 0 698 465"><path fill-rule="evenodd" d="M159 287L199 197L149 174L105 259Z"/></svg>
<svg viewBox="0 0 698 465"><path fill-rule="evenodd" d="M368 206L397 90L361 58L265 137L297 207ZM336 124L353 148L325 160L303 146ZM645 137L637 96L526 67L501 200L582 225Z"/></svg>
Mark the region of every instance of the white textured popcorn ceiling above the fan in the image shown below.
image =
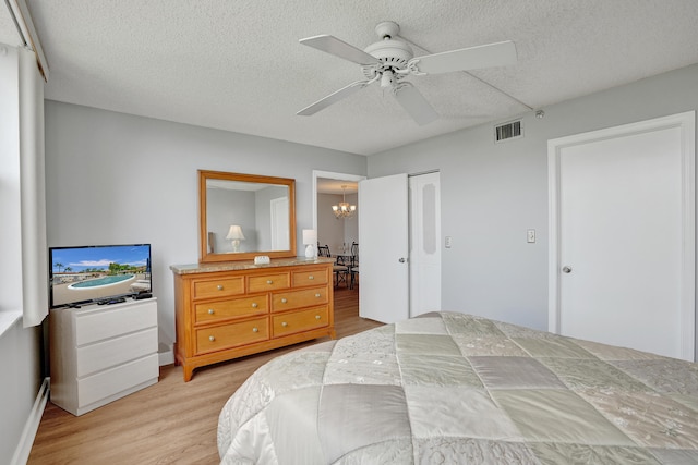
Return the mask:
<svg viewBox="0 0 698 465"><path fill-rule="evenodd" d="M698 62L696 0L26 1L48 99L363 155ZM518 62L410 77L441 117L425 126L377 86L297 117L363 77L298 40L332 34L363 49L386 20L417 56L513 40Z"/></svg>

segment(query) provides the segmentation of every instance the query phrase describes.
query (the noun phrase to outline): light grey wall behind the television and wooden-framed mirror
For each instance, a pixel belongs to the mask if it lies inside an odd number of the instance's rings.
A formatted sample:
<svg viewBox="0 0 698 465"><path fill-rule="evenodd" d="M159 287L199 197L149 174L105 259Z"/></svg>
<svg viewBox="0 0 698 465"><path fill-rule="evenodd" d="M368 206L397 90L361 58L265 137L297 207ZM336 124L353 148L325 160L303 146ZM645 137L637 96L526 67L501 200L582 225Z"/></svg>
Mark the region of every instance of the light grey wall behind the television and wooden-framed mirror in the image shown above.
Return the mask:
<svg viewBox="0 0 698 465"><path fill-rule="evenodd" d="M365 174L363 156L46 101L49 246L151 243L160 342L174 338L170 265L198 259L197 169L296 179L297 244L312 171Z"/></svg>

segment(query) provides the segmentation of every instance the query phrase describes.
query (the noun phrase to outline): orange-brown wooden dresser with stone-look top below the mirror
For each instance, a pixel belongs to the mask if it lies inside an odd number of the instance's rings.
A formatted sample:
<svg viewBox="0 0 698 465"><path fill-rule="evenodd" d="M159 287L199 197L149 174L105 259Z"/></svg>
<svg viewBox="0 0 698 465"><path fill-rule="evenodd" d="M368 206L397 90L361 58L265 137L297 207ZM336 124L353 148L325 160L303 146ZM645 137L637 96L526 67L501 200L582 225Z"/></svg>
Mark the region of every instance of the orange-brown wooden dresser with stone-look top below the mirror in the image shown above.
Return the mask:
<svg viewBox="0 0 698 465"><path fill-rule="evenodd" d="M171 266L184 381L202 366L335 339L332 267L326 258Z"/></svg>

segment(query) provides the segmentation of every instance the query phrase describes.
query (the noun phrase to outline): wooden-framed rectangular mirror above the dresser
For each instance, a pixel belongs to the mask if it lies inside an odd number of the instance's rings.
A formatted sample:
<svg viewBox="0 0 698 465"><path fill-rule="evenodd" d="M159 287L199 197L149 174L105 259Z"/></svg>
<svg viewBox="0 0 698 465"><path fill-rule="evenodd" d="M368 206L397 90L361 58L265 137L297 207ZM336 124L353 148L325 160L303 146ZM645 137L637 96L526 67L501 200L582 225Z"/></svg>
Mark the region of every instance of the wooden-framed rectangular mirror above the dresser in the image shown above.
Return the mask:
<svg viewBox="0 0 698 465"><path fill-rule="evenodd" d="M296 180L198 170L200 262L296 257Z"/></svg>

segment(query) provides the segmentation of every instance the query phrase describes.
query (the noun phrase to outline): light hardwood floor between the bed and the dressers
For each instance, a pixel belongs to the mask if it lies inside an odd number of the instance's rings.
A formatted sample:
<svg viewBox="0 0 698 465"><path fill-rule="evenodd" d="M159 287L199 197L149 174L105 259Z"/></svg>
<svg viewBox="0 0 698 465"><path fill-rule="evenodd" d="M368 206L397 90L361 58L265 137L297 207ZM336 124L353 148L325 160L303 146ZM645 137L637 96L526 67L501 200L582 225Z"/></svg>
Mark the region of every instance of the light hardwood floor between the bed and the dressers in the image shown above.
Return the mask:
<svg viewBox="0 0 698 465"><path fill-rule="evenodd" d="M357 289L335 289L337 338L381 323L359 317ZM218 414L264 363L328 338L196 369L160 367L159 382L75 417L46 406L28 464L217 464Z"/></svg>

